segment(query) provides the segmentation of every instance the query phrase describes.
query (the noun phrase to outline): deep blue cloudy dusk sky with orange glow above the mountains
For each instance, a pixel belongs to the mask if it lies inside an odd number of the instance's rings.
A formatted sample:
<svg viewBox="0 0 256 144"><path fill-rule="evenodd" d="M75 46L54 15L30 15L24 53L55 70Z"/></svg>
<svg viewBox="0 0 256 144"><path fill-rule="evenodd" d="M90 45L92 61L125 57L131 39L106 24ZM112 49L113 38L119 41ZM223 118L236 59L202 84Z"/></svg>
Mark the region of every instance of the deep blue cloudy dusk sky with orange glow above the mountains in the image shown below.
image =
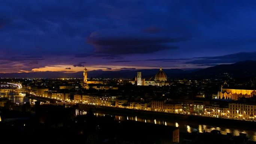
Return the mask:
<svg viewBox="0 0 256 144"><path fill-rule="evenodd" d="M0 0L0 73L256 60L255 6L255 0Z"/></svg>

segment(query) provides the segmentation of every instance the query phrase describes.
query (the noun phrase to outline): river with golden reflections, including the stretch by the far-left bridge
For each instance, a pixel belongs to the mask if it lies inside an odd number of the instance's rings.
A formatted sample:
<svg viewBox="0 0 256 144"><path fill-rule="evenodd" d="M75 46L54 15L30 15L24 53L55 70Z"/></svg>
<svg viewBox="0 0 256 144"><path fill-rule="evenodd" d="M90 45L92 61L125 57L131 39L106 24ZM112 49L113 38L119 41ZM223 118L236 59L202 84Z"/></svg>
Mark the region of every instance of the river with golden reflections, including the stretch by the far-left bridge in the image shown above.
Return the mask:
<svg viewBox="0 0 256 144"><path fill-rule="evenodd" d="M19 103L19 104L24 104L25 102L30 102L34 103L36 100L33 99L28 99L24 96L24 94L18 94L18 95L3 95L0 94L0 97L6 97L10 100L12 100L14 103ZM86 111L80 111L76 110L77 115L84 115L86 114ZM94 113L95 116L106 116L107 114L100 114L100 113ZM114 116L111 115L112 117L115 117L116 120L135 120L139 122L146 122L146 123L155 123L159 125L167 125L167 126L176 126L179 127L180 132L211 132L212 130L216 129L221 131L222 134L227 134L227 133L232 133L235 136L238 136L240 133L247 134L247 137L250 137L251 140L256 141L256 131L250 131L246 130L243 128L239 129L234 129L234 128L229 128L223 127L223 126L211 126L211 125L200 125L198 123L189 123L187 121L174 121L174 120L161 120L161 119L144 119L140 116Z"/></svg>

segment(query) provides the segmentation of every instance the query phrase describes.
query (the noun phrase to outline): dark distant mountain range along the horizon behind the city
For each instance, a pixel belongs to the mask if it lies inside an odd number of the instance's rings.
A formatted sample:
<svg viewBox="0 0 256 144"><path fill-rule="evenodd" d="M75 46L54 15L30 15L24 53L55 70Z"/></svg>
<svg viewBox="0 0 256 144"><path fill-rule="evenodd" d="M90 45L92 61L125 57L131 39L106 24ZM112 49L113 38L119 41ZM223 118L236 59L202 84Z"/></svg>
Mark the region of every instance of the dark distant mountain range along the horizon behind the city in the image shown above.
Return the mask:
<svg viewBox="0 0 256 144"><path fill-rule="evenodd" d="M142 77L152 78L159 69L144 69L144 70L119 70L119 71L88 71L88 78L134 78L137 71L141 71ZM256 61L242 61L234 64L222 64L214 67L194 70L181 69L164 69L164 72L170 78L176 77L214 77L220 76L223 73L231 74L234 77L255 77L256 76ZM16 77L16 78L82 78L83 72L64 73L57 71L32 72L32 73L0 73L0 77Z"/></svg>

